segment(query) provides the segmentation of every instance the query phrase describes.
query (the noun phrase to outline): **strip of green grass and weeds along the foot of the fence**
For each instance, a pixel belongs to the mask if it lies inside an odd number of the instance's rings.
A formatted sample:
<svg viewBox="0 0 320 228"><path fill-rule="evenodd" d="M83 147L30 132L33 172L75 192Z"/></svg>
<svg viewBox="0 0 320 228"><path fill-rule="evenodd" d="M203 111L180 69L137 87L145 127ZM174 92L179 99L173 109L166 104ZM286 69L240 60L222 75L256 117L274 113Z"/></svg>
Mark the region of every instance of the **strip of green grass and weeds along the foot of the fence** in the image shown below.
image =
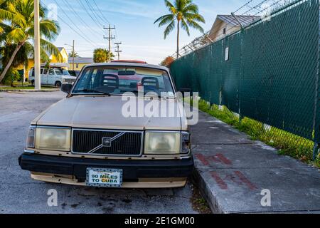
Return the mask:
<svg viewBox="0 0 320 228"><path fill-rule="evenodd" d="M279 128L265 125L250 118L243 118L240 121L239 117L225 106L219 108L218 105L210 105L205 100L199 101L199 110L247 133L251 140L260 140L267 145L276 147L281 155L289 155L290 157L320 168L320 156L318 155L316 160L312 160L314 142L311 140L288 133Z"/></svg>

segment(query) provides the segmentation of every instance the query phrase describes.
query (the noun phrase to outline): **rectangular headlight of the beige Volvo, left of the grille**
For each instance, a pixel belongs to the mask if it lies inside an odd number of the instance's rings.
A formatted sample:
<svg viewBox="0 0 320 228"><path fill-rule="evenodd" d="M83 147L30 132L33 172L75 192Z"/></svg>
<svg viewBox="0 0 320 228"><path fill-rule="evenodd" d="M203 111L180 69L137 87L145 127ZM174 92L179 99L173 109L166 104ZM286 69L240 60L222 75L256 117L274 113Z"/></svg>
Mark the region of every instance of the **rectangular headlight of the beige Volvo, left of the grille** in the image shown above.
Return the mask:
<svg viewBox="0 0 320 228"><path fill-rule="evenodd" d="M36 149L70 151L70 128L36 128Z"/></svg>

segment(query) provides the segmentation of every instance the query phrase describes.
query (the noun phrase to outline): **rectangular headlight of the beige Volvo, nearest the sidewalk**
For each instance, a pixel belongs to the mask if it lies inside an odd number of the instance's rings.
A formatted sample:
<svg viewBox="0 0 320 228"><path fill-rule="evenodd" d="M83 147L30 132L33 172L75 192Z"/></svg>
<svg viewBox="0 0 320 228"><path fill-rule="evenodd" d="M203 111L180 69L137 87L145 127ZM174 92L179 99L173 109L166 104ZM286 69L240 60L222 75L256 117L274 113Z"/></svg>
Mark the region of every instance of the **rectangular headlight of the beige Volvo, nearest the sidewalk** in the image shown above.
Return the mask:
<svg viewBox="0 0 320 228"><path fill-rule="evenodd" d="M145 154L180 153L181 133L146 132Z"/></svg>

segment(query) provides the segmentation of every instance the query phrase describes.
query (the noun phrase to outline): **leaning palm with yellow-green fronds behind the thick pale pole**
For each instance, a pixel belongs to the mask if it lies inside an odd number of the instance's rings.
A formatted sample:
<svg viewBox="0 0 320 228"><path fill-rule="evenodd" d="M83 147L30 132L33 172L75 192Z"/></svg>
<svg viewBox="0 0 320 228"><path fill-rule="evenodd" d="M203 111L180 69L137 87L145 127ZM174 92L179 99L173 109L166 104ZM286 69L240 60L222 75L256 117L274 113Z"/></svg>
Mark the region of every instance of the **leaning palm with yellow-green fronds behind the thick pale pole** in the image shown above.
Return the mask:
<svg viewBox="0 0 320 228"><path fill-rule="evenodd" d="M26 63L26 56L33 53L34 37L34 1L33 0L0 0L0 42L3 46L11 48L11 52L4 51L4 70L0 76L0 82L6 75L13 63L23 60ZM40 34L41 34L41 57L48 59L48 53L53 54L62 60L60 51L53 43L60 32L56 21L46 19L47 9L40 6ZM9 21L9 22L4 22ZM23 57L23 58L22 58ZM16 65L16 63L14 64Z"/></svg>

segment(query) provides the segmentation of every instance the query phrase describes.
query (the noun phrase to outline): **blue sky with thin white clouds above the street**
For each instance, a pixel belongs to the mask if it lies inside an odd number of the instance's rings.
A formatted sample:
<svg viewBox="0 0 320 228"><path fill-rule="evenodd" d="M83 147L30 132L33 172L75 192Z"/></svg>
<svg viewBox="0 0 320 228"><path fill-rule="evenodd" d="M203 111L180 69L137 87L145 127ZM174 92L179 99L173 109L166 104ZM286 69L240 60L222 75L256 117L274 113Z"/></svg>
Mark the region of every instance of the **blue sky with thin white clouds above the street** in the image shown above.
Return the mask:
<svg viewBox="0 0 320 228"><path fill-rule="evenodd" d="M86 6L92 18L80 1ZM95 8L96 17L92 15L86 1ZM61 32L54 41L55 45L72 44L75 39L75 51L82 57L92 57L92 51L97 47L107 48L107 39L103 38L104 34L107 35L107 30L104 30L102 25L108 26L109 23L117 28L116 31L112 31L112 35L117 36L112 43L122 41L120 46L122 59L146 60L148 63L158 64L176 51L176 30L164 40L165 27L158 28L154 25L159 16L168 14L163 0L42 0L41 2L53 9L50 16L58 14ZM208 31L217 14L230 14L247 0L193 0L193 2L198 4L200 14L206 19L203 28ZM192 29L191 36L187 36L183 31L180 46L190 43L193 38L200 35L200 32ZM112 51L114 47L112 45ZM67 51L71 49L68 46L65 48Z"/></svg>

